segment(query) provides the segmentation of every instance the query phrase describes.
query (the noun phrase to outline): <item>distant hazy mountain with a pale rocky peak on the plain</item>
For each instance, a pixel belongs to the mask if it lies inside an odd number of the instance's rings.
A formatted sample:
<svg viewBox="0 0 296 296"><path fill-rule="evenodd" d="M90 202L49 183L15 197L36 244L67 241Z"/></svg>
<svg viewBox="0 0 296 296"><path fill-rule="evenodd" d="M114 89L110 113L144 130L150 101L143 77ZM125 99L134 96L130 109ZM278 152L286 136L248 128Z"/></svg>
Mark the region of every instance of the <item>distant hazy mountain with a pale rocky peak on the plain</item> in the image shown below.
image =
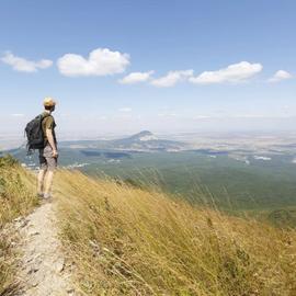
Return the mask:
<svg viewBox="0 0 296 296"><path fill-rule="evenodd" d="M185 143L160 139L149 130L143 130L127 138L115 140L76 140L64 141L60 147L76 149L114 149L135 151L180 151L186 148Z"/></svg>

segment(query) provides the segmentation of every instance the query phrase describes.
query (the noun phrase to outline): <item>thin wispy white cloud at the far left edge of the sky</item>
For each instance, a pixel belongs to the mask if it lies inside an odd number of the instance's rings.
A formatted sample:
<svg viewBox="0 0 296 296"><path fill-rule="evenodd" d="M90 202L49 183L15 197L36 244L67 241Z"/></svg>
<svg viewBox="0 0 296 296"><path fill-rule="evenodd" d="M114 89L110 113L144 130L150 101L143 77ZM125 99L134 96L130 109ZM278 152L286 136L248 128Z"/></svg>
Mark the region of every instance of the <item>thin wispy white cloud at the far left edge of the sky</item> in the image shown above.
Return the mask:
<svg viewBox="0 0 296 296"><path fill-rule="evenodd" d="M14 56L7 52L1 58L4 64L12 66L12 69L20 72L36 72L38 69L46 69L53 65L49 59L41 59L38 61L27 60L22 57Z"/></svg>

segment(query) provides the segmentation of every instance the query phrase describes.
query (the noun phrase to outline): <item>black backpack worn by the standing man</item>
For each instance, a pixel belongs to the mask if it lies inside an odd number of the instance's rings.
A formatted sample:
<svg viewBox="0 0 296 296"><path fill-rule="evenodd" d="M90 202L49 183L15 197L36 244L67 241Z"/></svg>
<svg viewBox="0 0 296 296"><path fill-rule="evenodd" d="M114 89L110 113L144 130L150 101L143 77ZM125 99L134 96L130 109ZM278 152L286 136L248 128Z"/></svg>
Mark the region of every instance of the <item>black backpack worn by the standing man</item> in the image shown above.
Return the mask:
<svg viewBox="0 0 296 296"><path fill-rule="evenodd" d="M42 128L42 122L49 114L41 114L31 121L25 127L25 135L27 138L27 152L32 152L35 149L44 148L44 133Z"/></svg>

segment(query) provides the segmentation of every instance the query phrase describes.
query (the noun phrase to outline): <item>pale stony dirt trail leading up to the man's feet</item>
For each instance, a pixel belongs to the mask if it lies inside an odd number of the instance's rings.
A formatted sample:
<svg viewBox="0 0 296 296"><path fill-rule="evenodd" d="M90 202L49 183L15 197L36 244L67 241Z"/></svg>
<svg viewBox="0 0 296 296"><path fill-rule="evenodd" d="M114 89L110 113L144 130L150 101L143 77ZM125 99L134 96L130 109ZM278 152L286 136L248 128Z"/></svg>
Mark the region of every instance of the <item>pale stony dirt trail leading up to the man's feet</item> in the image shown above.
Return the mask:
<svg viewBox="0 0 296 296"><path fill-rule="evenodd" d="M65 263L55 219L55 204L46 203L16 221L21 235L19 296L78 295Z"/></svg>

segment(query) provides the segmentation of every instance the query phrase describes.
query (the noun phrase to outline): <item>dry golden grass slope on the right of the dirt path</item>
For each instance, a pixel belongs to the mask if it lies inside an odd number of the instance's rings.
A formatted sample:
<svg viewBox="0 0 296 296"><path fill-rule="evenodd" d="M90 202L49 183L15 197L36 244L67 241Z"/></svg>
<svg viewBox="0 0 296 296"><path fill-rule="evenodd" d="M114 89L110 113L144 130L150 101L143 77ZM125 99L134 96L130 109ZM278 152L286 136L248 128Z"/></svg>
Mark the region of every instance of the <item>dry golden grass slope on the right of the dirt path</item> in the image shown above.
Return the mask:
<svg viewBox="0 0 296 296"><path fill-rule="evenodd" d="M61 171L64 246L86 295L296 295L296 231Z"/></svg>

